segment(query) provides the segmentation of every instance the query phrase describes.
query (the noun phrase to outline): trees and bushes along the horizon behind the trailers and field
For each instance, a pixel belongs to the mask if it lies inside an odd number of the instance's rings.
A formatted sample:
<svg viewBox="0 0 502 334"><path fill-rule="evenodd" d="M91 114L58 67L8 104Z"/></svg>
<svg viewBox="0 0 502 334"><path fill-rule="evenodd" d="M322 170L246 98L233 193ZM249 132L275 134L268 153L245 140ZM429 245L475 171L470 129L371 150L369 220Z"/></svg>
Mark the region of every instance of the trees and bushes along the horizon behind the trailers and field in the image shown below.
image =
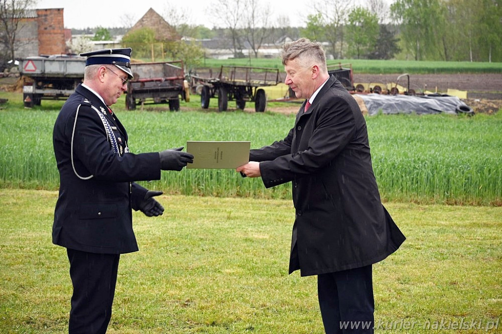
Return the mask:
<svg viewBox="0 0 502 334"><path fill-rule="evenodd" d="M182 7L172 6L164 14L184 37L183 43L157 41L149 31L128 34L123 42L134 45L137 55L174 53L172 57L187 57L186 62L194 64L203 57L201 40L218 41L238 58L244 57L243 51L259 57L265 47L280 47L286 38L300 37L324 43L333 59L502 62L500 0L391 1L315 0L304 27L292 27L286 16L272 19L266 0L211 0L208 18L218 22L212 29L187 24L189 10ZM19 21L34 4L35 0L0 0L2 58L14 55ZM103 39L127 28L86 32Z"/></svg>

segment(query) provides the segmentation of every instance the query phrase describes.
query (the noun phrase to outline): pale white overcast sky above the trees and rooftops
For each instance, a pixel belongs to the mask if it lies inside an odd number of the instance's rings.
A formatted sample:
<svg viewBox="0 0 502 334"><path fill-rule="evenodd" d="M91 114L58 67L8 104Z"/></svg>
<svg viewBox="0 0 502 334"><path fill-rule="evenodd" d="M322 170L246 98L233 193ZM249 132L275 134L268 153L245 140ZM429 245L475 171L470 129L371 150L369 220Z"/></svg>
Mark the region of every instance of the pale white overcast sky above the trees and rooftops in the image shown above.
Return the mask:
<svg viewBox="0 0 502 334"><path fill-rule="evenodd" d="M365 4L365 0L356 1ZM172 6L188 14L188 24L203 25L208 28L213 28L215 25L224 26L218 25L205 13L211 3L212 0L38 0L37 8L63 8L64 26L70 29L124 27L127 19L133 21L130 24L132 26L150 8L164 17ZM275 23L279 16L287 16L292 27L304 27L307 15L314 12L313 1L309 0L261 0L261 3L263 6L266 6L265 4L270 6L273 13L272 22ZM169 20L167 22L171 23Z"/></svg>

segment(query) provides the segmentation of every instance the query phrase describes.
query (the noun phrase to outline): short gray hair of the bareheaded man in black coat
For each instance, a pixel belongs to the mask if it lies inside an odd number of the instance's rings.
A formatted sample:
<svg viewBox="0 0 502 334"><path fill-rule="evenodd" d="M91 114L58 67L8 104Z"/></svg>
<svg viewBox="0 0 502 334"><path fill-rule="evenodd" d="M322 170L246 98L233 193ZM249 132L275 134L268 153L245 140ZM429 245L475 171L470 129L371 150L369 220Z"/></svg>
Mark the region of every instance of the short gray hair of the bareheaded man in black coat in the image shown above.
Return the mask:
<svg viewBox="0 0 502 334"><path fill-rule="evenodd" d="M299 59L302 65L306 61L310 61L319 66L320 70L327 72L326 55L324 49L318 42L310 41L306 38L301 38L297 41L286 43L282 47L282 64L286 65L289 60ZM309 64L308 66L310 66Z"/></svg>

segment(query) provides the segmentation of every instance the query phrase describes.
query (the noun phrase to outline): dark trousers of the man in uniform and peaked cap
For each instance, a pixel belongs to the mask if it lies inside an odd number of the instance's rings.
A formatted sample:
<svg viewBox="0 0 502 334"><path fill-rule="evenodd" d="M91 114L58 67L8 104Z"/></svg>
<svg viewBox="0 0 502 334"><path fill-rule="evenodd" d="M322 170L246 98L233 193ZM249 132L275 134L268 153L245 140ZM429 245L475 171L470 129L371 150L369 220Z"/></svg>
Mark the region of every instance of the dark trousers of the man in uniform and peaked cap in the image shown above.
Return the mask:
<svg viewBox="0 0 502 334"><path fill-rule="evenodd" d="M73 284L69 334L105 334L111 317L120 254L67 249Z"/></svg>

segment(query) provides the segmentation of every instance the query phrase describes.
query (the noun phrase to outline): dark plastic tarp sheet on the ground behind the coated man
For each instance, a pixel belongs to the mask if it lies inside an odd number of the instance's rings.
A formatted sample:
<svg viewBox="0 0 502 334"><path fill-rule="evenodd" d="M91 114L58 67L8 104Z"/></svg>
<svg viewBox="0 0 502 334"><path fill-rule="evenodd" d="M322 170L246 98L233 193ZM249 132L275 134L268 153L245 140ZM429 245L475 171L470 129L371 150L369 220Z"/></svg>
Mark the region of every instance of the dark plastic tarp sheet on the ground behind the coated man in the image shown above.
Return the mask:
<svg viewBox="0 0 502 334"><path fill-rule="evenodd" d="M470 108L456 96L410 96L356 94L364 101L368 115L384 114L457 114L470 112ZM463 107L463 108L461 108Z"/></svg>

